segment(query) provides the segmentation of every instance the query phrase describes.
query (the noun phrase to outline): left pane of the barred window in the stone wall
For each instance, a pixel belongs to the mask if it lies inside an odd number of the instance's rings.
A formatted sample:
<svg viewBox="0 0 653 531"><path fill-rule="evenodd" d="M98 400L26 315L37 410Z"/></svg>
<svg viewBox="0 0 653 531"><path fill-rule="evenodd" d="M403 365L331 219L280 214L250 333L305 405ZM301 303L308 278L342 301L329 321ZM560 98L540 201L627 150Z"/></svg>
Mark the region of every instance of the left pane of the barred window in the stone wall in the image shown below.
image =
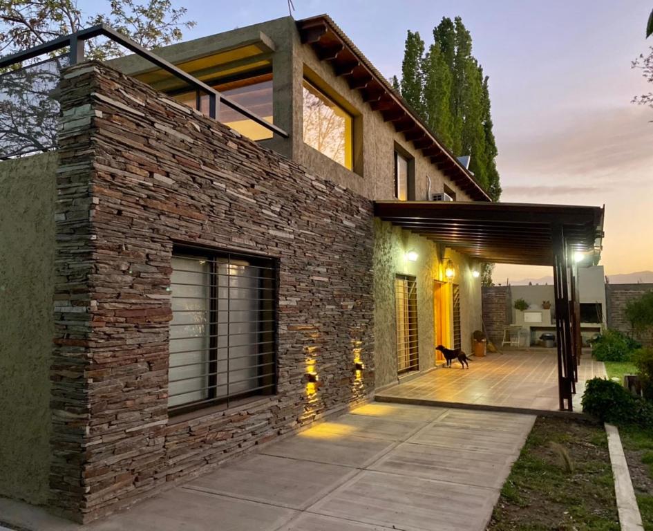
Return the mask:
<svg viewBox="0 0 653 531"><path fill-rule="evenodd" d="M172 258L169 407L208 396L209 267L208 259Z"/></svg>

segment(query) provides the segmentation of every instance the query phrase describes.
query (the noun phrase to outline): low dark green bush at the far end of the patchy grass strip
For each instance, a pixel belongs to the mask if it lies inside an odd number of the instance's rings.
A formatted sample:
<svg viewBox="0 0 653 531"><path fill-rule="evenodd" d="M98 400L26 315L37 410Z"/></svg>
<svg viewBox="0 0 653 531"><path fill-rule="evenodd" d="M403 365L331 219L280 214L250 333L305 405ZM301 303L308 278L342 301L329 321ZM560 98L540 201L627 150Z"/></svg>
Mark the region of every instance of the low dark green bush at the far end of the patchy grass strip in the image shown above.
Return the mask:
<svg viewBox="0 0 653 531"><path fill-rule="evenodd" d="M611 380L589 380L581 404L585 413L603 422L653 426L653 404Z"/></svg>

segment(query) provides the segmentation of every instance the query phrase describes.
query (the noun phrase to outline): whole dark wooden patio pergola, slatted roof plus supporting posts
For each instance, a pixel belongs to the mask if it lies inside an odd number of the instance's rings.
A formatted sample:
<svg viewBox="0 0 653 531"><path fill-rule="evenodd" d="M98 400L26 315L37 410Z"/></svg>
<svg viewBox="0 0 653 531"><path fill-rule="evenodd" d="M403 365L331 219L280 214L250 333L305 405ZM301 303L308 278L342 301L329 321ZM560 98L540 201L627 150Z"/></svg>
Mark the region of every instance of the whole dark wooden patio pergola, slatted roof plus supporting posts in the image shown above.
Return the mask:
<svg viewBox="0 0 653 531"><path fill-rule="evenodd" d="M377 201L375 216L483 262L550 265L556 297L558 395L572 410L580 363L580 264L598 263L603 207Z"/></svg>

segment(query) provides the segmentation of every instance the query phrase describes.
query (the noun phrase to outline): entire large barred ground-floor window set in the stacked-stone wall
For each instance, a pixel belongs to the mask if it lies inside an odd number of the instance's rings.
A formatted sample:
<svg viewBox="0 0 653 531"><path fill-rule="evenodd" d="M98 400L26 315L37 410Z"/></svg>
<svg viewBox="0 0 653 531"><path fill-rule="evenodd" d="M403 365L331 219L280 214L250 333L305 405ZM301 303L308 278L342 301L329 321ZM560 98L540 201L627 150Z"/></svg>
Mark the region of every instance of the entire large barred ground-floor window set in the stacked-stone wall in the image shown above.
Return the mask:
<svg viewBox="0 0 653 531"><path fill-rule="evenodd" d="M274 393L275 262L177 249L172 269L169 411Z"/></svg>

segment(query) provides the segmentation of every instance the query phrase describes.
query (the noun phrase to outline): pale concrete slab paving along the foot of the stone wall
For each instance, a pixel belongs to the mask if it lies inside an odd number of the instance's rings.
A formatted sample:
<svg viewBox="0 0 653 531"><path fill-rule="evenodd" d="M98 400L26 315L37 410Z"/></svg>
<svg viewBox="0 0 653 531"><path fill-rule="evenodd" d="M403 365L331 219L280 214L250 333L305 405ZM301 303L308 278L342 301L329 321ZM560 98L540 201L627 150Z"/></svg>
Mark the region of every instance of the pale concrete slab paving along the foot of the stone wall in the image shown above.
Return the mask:
<svg viewBox="0 0 653 531"><path fill-rule="evenodd" d="M12 514L32 531L482 531L534 420L366 404L93 525Z"/></svg>

